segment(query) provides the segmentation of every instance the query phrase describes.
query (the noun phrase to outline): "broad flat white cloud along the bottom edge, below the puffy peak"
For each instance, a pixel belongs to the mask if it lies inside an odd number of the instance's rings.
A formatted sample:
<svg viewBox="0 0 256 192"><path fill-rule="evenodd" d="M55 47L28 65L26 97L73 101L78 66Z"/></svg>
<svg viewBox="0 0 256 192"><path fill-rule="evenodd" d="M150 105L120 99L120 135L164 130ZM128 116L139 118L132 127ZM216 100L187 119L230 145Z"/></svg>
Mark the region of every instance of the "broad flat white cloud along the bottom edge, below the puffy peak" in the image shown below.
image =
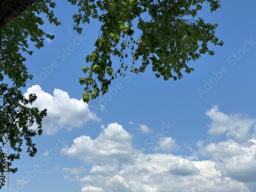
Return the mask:
<svg viewBox="0 0 256 192"><path fill-rule="evenodd" d="M97 165L101 172L90 172L80 182L104 191L249 191L242 182L223 177L214 165L212 161L195 163L171 154L140 153L133 162L116 163L118 168L111 174L104 169L110 164Z"/></svg>

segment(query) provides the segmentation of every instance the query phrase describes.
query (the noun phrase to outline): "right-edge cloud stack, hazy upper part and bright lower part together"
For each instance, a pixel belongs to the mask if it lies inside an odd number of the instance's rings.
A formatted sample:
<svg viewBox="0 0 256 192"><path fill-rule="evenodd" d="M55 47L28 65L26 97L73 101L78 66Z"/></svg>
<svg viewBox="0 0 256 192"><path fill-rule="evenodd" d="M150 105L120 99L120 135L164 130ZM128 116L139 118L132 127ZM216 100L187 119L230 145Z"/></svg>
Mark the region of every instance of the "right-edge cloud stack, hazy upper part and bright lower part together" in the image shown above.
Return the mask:
<svg viewBox="0 0 256 192"><path fill-rule="evenodd" d="M224 135L226 140L198 141L198 155L215 161L215 168L222 176L244 182L253 191L256 188L256 119L241 114L224 114L218 106L207 111L206 115L212 120L208 133Z"/></svg>

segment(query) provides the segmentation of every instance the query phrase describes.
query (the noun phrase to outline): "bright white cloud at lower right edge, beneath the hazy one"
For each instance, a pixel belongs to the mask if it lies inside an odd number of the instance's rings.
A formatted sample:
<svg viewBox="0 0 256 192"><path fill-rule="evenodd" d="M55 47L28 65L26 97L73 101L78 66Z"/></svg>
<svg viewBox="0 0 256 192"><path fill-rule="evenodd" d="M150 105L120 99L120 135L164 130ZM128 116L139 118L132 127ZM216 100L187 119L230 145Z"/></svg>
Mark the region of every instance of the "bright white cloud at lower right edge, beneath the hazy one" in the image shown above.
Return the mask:
<svg viewBox="0 0 256 192"><path fill-rule="evenodd" d="M199 144L200 155L215 160L216 168L222 175L241 182L255 182L256 177L256 140L250 139L245 143L227 140L210 143L206 146Z"/></svg>

